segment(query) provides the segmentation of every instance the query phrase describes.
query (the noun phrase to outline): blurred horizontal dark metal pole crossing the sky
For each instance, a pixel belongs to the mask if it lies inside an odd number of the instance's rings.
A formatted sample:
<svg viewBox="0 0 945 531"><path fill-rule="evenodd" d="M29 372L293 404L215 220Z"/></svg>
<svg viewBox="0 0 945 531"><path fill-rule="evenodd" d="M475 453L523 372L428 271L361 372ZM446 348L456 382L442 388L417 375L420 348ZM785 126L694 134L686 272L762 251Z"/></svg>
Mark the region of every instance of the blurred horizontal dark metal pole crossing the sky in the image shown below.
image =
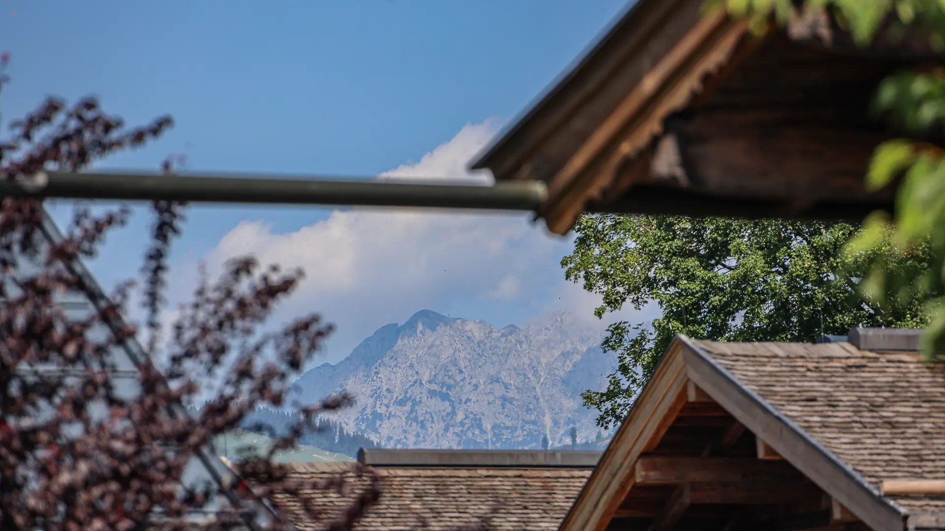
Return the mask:
<svg viewBox="0 0 945 531"><path fill-rule="evenodd" d="M536 211L547 191L539 181L476 186L326 177L45 172L22 183L0 181L0 197Z"/></svg>

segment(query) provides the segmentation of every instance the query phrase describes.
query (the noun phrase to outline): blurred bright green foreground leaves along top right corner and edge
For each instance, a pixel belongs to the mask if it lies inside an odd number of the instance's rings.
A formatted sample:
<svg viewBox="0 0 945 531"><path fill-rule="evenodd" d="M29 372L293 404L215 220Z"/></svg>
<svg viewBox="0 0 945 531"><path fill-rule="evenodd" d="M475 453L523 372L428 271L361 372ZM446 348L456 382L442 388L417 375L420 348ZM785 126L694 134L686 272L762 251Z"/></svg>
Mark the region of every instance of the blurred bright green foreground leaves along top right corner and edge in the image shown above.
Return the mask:
<svg viewBox="0 0 945 531"><path fill-rule="evenodd" d="M707 0L707 7L750 17L757 31L765 31L772 19L783 25L814 15L829 18L860 45L896 42L908 35L913 45L925 42L936 52L945 51L945 2L940 0ZM845 251L855 255L890 241L900 254L927 255L918 275L908 276L897 269L899 257L872 255L862 291L885 306L908 307L917 297L923 300L930 322L922 351L931 357L945 351L945 152L940 142L915 139L940 141L945 131L945 68L891 74L877 87L874 109L864 111L879 112L907 137L877 147L868 188L882 188L897 177L902 184L895 217L870 215Z"/></svg>

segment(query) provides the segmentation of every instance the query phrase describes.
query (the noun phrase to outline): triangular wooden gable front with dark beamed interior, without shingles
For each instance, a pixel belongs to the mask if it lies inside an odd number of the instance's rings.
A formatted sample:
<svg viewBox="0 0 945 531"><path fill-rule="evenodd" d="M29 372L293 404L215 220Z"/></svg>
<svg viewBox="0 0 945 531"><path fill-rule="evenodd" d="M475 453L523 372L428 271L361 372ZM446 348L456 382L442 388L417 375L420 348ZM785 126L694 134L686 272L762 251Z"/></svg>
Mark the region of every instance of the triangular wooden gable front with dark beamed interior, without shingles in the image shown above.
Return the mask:
<svg viewBox="0 0 945 531"><path fill-rule="evenodd" d="M560 530L902 531L922 518L680 335Z"/></svg>

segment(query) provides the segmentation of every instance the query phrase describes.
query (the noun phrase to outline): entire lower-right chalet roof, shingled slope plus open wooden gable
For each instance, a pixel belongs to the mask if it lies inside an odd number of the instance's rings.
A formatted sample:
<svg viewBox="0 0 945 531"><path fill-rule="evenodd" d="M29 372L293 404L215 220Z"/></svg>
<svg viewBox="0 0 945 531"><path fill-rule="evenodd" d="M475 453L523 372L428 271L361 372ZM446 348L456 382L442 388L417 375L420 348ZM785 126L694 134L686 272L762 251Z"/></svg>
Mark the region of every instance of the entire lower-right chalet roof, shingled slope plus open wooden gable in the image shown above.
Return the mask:
<svg viewBox="0 0 945 531"><path fill-rule="evenodd" d="M694 470L713 469L714 459L723 468L750 466L752 473L771 472L763 462L779 460L782 484L791 471L805 478L797 484L799 491L805 482L813 484L807 487L814 497L805 502L805 514L825 511L826 520L818 525L837 524L837 514L849 511L848 520L875 530L945 529L941 485L929 489L927 483L945 480L945 374L921 363L914 351L918 331L892 336L875 331L879 341L868 332L851 334L850 342L823 344L721 343L679 336L562 529L605 529L627 518L652 522L659 515L645 512L645 497L651 497L651 505L654 496L658 506L667 502L646 474L669 467L674 459ZM713 488L716 497L728 495ZM696 507L693 492L690 501ZM935 495L924 495L929 492ZM827 505L817 505L817 493ZM772 494L770 499L779 498ZM738 509L752 518L758 518L758 506L773 503L740 495L706 506L719 509L723 501L752 505ZM765 510L774 514L774 508ZM685 506L682 511L690 514ZM723 509L721 516L731 514ZM720 516L717 510L699 515Z"/></svg>

